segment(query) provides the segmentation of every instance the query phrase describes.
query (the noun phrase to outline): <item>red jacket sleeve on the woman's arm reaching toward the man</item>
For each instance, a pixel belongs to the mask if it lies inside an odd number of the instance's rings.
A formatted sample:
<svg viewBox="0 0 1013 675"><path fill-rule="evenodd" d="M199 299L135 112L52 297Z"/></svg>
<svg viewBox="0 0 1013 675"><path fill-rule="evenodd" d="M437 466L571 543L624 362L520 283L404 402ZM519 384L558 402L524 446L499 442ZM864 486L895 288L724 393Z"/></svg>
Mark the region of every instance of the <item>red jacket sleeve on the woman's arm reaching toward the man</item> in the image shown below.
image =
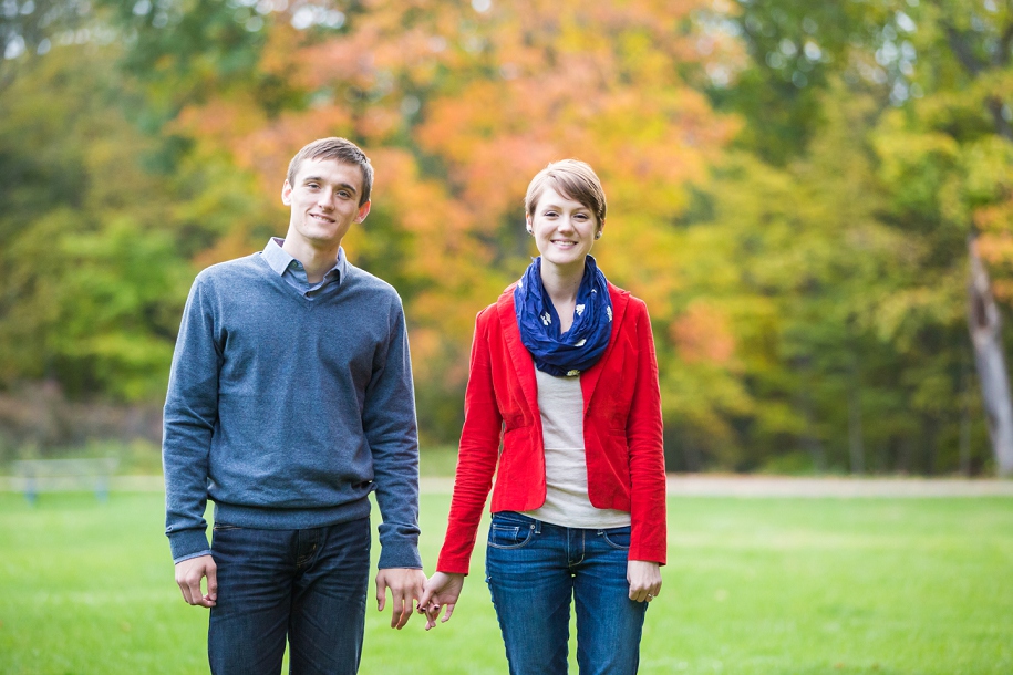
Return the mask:
<svg viewBox="0 0 1013 675"><path fill-rule="evenodd" d="M495 318L495 308L486 309L475 322L454 497L446 538L436 564L441 572L467 574L482 510L492 489L499 457L503 416L496 404L489 347L489 331L498 330Z"/></svg>

